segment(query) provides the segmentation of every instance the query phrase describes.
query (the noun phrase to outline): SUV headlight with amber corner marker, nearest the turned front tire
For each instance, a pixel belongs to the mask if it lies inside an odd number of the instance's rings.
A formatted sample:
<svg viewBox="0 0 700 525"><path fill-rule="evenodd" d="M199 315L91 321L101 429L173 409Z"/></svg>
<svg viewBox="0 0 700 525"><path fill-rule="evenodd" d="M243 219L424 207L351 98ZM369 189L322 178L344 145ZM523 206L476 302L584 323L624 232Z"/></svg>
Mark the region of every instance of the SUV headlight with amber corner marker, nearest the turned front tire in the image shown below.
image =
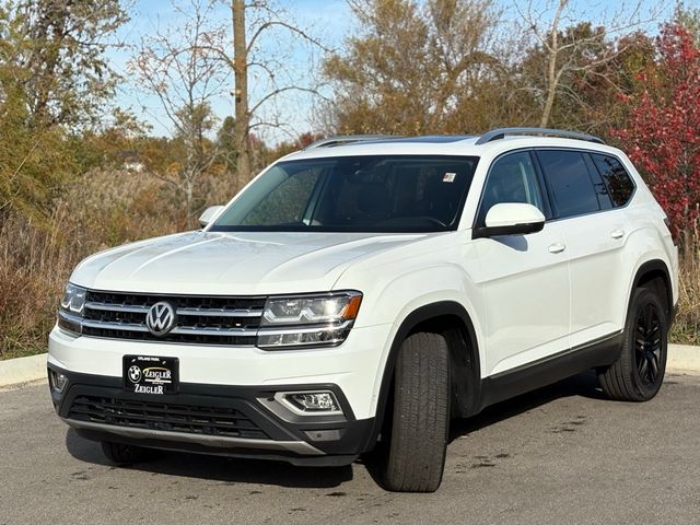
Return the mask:
<svg viewBox="0 0 700 525"><path fill-rule="evenodd" d="M360 292L270 298L265 304L258 347L337 346L346 340L360 311Z"/></svg>

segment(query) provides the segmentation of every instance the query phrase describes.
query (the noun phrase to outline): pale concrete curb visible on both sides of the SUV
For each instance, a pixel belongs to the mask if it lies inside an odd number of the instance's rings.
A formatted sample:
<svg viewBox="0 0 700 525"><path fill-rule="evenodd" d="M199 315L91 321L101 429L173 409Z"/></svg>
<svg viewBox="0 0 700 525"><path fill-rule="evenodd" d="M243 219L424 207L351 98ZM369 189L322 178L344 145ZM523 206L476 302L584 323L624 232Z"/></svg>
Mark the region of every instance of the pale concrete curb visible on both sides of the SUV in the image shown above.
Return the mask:
<svg viewBox="0 0 700 525"><path fill-rule="evenodd" d="M46 353L0 361L0 387L46 377ZM700 374L700 347L668 345L668 372Z"/></svg>

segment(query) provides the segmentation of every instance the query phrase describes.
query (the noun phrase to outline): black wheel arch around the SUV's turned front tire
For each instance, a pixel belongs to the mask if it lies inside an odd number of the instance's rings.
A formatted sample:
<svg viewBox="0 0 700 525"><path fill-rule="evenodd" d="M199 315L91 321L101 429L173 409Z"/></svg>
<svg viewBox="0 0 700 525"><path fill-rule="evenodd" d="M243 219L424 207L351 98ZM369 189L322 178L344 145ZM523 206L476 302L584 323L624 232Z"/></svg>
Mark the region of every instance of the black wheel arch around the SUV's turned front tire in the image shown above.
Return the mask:
<svg viewBox="0 0 700 525"><path fill-rule="evenodd" d="M411 334L429 331L447 339L452 370L452 404L459 417L471 416L481 408L481 363L475 325L467 310L456 301L439 301L409 313L392 340L378 390L374 428L365 450L371 450L382 431L392 397L394 369L404 340ZM466 375L466 381L455 381Z"/></svg>

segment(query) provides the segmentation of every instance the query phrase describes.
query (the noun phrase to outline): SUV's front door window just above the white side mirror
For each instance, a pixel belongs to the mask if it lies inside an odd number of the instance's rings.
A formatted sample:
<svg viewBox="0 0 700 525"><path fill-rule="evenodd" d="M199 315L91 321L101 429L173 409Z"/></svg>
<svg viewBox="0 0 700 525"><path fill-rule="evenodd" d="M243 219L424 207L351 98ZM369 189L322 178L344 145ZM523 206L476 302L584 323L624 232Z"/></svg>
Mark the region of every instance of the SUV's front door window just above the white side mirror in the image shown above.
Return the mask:
<svg viewBox="0 0 700 525"><path fill-rule="evenodd" d="M527 152L500 158L491 166L483 187L477 223L483 225L486 214L493 205L523 202L546 213L533 160Z"/></svg>

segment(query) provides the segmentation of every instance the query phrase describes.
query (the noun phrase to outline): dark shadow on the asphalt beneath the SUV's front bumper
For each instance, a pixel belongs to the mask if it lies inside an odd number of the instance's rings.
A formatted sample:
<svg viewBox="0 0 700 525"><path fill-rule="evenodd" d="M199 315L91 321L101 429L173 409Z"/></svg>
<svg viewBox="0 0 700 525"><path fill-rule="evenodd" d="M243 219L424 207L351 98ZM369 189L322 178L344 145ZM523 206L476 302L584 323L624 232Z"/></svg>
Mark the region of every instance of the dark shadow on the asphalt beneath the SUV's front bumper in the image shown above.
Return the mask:
<svg viewBox="0 0 700 525"><path fill-rule="evenodd" d="M100 443L85 440L73 429L66 433L68 452L81 462L117 468L103 454ZM225 456L153 451L153 459L130 467L162 474L220 481L222 485L250 483L295 488L332 488L352 479L352 467L295 467L282 462L241 459Z"/></svg>

